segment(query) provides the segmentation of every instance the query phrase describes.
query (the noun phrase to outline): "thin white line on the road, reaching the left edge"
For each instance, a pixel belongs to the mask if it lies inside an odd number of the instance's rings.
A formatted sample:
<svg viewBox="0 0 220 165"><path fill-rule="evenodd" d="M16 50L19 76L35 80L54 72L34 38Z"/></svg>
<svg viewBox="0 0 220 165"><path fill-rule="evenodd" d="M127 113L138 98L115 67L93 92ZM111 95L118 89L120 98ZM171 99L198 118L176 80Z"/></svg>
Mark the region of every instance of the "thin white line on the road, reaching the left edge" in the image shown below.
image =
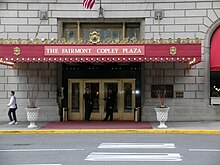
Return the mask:
<svg viewBox="0 0 220 165"><path fill-rule="evenodd" d="M84 149L16 149L0 150L0 152L41 152L41 151L83 151Z"/></svg>

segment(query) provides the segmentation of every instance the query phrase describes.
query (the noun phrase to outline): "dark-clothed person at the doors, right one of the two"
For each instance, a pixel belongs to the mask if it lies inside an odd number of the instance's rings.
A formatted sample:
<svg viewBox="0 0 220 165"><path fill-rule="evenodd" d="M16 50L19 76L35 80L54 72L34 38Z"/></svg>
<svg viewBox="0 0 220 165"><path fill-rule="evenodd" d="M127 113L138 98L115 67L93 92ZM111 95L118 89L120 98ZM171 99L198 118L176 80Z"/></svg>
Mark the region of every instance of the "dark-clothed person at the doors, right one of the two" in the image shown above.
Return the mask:
<svg viewBox="0 0 220 165"><path fill-rule="evenodd" d="M114 108L114 101L115 101L115 97L113 95L112 89L109 88L108 89L108 94L107 97L104 98L104 100L106 101L106 116L104 118L104 121L107 121L108 118L110 117L110 121L113 121L113 108Z"/></svg>

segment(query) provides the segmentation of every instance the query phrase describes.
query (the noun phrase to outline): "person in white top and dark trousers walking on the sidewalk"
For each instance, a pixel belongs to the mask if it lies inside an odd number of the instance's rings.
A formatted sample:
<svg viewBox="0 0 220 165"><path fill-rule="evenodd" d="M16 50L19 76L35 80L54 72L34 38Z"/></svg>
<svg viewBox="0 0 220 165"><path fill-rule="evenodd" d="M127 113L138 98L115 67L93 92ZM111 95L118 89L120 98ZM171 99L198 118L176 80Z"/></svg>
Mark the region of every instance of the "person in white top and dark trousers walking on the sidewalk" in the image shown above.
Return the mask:
<svg viewBox="0 0 220 165"><path fill-rule="evenodd" d="M17 117L16 117L16 110L17 110L17 103L16 103L16 97L14 96L15 92L11 91L11 97L10 97L10 101L8 103L8 117L10 122L8 124L12 125L12 124L17 124ZM12 118L12 115L13 118Z"/></svg>

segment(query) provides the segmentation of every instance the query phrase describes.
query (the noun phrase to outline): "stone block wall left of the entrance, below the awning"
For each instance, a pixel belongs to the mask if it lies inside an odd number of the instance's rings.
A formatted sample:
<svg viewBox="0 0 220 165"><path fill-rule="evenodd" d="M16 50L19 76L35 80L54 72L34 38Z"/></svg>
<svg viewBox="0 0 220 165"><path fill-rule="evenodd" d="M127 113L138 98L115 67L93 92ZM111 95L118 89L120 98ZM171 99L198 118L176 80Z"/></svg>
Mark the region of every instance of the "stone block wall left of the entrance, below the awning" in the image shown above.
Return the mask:
<svg viewBox="0 0 220 165"><path fill-rule="evenodd" d="M7 121L10 91L15 91L19 106L17 118L26 120L25 108L30 105L28 94L37 94L36 106L40 108L40 121L59 120L57 105L57 64L19 63L13 67L0 65L1 121Z"/></svg>

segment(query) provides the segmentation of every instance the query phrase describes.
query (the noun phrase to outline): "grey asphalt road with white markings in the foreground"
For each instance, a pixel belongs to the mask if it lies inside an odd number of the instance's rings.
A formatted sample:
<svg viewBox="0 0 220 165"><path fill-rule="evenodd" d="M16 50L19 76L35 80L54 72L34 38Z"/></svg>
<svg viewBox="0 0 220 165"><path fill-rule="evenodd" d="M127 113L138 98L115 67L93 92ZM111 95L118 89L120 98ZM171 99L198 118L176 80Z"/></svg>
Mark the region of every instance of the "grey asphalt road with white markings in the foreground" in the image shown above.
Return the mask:
<svg viewBox="0 0 220 165"><path fill-rule="evenodd" d="M0 135L0 165L219 165L219 135Z"/></svg>

